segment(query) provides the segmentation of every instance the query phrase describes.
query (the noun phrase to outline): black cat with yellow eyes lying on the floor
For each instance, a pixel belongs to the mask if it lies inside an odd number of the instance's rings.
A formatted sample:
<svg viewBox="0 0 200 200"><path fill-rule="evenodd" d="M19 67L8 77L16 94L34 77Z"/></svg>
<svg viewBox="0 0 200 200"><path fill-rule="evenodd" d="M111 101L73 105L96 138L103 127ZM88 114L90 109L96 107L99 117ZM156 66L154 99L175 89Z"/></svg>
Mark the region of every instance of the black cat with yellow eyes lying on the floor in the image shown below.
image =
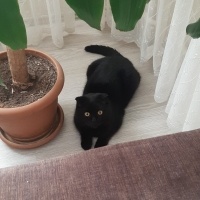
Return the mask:
<svg viewBox="0 0 200 200"><path fill-rule="evenodd" d="M140 74L133 64L116 50L91 45L85 50L106 57L89 65L83 95L76 97L74 123L81 135L81 146L105 146L120 128L124 110L140 83Z"/></svg>

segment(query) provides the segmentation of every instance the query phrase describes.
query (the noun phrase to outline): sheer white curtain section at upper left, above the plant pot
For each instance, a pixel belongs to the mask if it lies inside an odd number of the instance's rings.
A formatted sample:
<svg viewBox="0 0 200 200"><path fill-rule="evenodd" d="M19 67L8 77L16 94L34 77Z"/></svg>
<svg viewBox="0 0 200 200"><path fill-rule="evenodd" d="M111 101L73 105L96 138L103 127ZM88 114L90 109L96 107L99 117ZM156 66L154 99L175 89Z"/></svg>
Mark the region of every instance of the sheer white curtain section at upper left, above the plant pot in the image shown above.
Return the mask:
<svg viewBox="0 0 200 200"><path fill-rule="evenodd" d="M75 14L65 0L18 0L25 21L28 45L38 45L47 36L61 48L63 37L74 32Z"/></svg>

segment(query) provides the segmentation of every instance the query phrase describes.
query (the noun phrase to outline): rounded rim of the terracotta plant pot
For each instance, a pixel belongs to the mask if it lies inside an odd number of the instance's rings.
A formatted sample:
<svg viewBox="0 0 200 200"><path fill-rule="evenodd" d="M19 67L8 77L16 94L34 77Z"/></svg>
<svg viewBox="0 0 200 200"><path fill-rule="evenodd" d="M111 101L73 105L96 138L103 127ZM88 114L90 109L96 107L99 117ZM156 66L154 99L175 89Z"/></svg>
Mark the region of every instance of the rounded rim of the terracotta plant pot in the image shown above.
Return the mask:
<svg viewBox="0 0 200 200"><path fill-rule="evenodd" d="M24 106L19 106L19 107L14 107L14 108L0 108L0 115L9 115L9 114L15 114L15 113L19 113L19 112L26 112L26 111L30 111L31 109L42 109L42 106L44 103L46 102L46 107L51 104L53 101L55 101L55 99L57 99L58 95L60 94L63 86L64 86L64 72L63 69L60 65L60 63L52 56L46 54L45 52L36 50L36 49L32 49L32 48L27 48L25 49L26 54L32 54L41 58L45 58L47 59L49 62L51 62L51 64L55 67L56 72L57 72L57 79L56 82L54 84L54 86L51 88L51 90L45 94L45 96L43 96L42 98L38 99L37 101L34 101L28 105L24 105ZM0 58L2 55L7 54L6 51L0 52ZM7 55L6 55L7 57Z"/></svg>

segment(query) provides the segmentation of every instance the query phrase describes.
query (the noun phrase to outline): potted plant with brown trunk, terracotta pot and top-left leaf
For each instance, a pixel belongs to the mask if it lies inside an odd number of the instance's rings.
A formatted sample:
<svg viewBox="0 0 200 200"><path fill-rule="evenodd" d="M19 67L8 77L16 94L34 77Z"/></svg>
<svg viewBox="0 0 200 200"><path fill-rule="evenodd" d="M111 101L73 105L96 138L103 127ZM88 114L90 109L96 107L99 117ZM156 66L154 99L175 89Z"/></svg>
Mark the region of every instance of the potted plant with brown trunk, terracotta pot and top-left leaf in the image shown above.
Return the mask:
<svg viewBox="0 0 200 200"><path fill-rule="evenodd" d="M60 64L51 56L27 47L26 29L17 0L0 2L0 41L7 46L7 52L0 53L0 62L8 59L12 85L0 80L0 87L15 96L28 93L34 88L37 74L30 74L27 58L38 58L53 70L55 81L48 92L28 105L7 107L0 104L0 138L15 148L34 148L47 143L59 132L63 124L63 111L58 105L58 95L64 84L64 74ZM45 64L45 65L46 65ZM38 64L36 64L38 65ZM42 63L40 67L44 67ZM3 74L0 65L0 77ZM50 80L51 81L51 80ZM9 89L10 88L10 89ZM42 90L42 88L40 88ZM36 95L32 94L35 98ZM0 99L1 100L1 99Z"/></svg>

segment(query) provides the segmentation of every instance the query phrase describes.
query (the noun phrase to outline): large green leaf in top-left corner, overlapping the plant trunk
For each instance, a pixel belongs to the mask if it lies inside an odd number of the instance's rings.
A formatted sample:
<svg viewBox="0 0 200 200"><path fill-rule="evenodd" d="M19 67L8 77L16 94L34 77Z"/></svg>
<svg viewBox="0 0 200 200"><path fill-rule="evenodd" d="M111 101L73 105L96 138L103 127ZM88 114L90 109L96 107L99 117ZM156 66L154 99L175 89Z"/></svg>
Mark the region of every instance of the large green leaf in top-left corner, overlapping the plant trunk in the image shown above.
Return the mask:
<svg viewBox="0 0 200 200"><path fill-rule="evenodd" d="M17 0L0 0L0 41L13 50L27 47L26 29Z"/></svg>

